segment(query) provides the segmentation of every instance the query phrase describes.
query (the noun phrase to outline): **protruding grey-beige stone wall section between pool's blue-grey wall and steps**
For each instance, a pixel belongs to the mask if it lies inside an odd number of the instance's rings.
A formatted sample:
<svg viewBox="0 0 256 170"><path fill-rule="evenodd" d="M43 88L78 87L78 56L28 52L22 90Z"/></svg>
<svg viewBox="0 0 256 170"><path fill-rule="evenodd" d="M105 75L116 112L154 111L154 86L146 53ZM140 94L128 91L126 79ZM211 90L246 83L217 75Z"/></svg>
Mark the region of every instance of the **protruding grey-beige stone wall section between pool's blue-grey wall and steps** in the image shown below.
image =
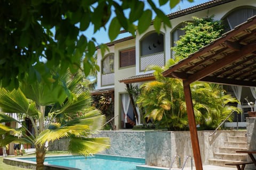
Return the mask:
<svg viewBox="0 0 256 170"><path fill-rule="evenodd" d="M217 131L209 137L212 131L198 131L198 140L201 150L203 165L209 165L209 159L213 158L213 153L218 152L230 135L244 135L245 131ZM171 160L175 155L181 158L181 165L187 156L193 157L190 132L146 132L146 157L145 161L150 166L170 167ZM190 167L190 159L186 164ZM178 159L173 167L178 167ZM193 160L193 165L195 165Z"/></svg>

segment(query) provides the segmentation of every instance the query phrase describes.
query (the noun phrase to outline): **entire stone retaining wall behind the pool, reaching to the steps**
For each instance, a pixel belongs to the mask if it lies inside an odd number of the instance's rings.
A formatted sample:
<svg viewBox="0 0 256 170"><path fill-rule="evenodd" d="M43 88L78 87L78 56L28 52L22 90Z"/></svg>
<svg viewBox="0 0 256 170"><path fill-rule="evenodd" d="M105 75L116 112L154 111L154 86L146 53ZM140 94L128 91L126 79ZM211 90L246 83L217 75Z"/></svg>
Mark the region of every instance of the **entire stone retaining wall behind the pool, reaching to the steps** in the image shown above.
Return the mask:
<svg viewBox="0 0 256 170"><path fill-rule="evenodd" d="M209 137L211 133L212 131L198 131L203 165L209 165L208 160L213 158L213 153L218 152L228 136L244 135L246 132L217 131ZM189 131L101 131L95 137L111 139L110 149L101 154L145 158L146 164L151 166L169 167L175 155L181 157L181 164L187 156L193 157ZM67 150L67 141L54 142L49 150L55 150L54 148ZM187 165L190 166L190 163ZM177 166L178 161L173 167Z"/></svg>

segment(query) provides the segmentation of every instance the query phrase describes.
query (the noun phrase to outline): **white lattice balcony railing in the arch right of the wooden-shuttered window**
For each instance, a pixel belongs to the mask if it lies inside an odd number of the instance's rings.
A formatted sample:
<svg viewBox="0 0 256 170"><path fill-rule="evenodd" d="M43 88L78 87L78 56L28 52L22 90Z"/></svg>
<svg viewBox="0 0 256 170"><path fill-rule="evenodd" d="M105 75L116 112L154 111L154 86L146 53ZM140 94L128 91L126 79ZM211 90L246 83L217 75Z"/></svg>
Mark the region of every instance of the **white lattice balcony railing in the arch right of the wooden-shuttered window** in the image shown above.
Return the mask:
<svg viewBox="0 0 256 170"><path fill-rule="evenodd" d="M146 70L149 65L164 66L164 52L144 55L140 57L140 71Z"/></svg>

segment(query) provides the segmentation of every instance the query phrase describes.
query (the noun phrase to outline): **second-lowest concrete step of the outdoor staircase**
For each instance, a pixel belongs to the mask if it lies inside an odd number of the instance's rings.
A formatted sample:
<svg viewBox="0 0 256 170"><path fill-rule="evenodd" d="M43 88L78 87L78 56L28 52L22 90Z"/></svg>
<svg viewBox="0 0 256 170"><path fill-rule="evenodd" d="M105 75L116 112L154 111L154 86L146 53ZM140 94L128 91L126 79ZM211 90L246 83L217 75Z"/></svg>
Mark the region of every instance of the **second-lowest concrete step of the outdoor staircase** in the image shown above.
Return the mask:
<svg viewBox="0 0 256 170"><path fill-rule="evenodd" d="M235 160L235 161L246 161L247 154L223 154L223 153L214 153L215 159L225 159L225 160Z"/></svg>

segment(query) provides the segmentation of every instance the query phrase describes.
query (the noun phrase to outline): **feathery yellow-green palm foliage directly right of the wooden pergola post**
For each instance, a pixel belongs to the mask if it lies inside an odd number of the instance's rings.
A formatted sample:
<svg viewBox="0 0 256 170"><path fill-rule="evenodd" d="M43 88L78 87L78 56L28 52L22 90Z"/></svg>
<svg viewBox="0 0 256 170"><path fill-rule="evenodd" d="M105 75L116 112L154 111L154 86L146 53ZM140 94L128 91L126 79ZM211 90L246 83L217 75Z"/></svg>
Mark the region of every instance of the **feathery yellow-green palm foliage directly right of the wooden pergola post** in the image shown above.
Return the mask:
<svg viewBox="0 0 256 170"><path fill-rule="evenodd" d="M191 85L191 93L196 122L207 130L217 128L231 112L242 113L240 108L231 105L239 100L226 94L220 84L195 82ZM233 116L228 121L233 121Z"/></svg>

